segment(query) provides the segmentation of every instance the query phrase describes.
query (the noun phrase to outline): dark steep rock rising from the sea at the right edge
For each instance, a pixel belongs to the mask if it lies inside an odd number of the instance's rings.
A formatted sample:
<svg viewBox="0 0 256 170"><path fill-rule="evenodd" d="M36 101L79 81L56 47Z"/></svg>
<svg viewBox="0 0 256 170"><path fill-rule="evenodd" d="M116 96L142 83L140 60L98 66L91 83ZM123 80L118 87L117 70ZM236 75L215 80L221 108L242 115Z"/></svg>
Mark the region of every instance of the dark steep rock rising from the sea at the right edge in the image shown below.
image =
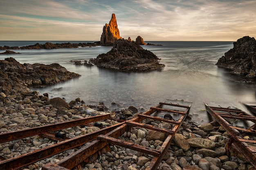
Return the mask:
<svg viewBox="0 0 256 170"><path fill-rule="evenodd" d="M238 39L217 65L232 70L232 73L256 77L256 40L249 36Z"/></svg>

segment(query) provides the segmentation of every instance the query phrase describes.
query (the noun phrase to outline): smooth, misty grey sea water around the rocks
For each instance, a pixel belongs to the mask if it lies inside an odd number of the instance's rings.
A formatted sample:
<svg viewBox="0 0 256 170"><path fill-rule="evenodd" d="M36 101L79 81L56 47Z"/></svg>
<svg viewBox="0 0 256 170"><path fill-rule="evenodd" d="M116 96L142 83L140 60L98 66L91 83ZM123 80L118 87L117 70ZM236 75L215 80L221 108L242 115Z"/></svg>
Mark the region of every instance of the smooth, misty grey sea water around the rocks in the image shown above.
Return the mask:
<svg viewBox="0 0 256 170"><path fill-rule="evenodd" d="M36 43L83 43L94 41L0 41L0 46L27 46ZM256 102L256 79L218 68L218 59L233 48L233 42L212 41L145 41L160 46L142 45L153 52L165 67L162 71L123 73L97 66L75 65L71 61L90 60L107 53L112 46L79 47L76 49L13 50L17 55L0 55L0 60L13 57L21 64L58 63L81 76L54 85L29 87L49 98L61 97L67 102L80 97L86 105L103 102L109 110L135 106L148 110L166 99L193 102L187 123L212 121L204 103L209 106L239 108L249 113L243 102ZM4 51L0 51L3 53ZM251 81L251 83L247 83ZM115 104L113 104L115 103Z"/></svg>

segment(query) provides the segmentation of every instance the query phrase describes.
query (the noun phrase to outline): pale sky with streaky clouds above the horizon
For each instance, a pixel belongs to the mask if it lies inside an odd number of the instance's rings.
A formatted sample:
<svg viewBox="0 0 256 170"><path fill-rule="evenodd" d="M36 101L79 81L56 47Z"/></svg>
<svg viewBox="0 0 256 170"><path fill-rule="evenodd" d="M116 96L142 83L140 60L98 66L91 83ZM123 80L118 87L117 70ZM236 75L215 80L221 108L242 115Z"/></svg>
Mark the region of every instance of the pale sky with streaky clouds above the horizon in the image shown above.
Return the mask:
<svg viewBox="0 0 256 170"><path fill-rule="evenodd" d="M0 40L99 41L112 13L124 39L256 37L256 0L1 0Z"/></svg>

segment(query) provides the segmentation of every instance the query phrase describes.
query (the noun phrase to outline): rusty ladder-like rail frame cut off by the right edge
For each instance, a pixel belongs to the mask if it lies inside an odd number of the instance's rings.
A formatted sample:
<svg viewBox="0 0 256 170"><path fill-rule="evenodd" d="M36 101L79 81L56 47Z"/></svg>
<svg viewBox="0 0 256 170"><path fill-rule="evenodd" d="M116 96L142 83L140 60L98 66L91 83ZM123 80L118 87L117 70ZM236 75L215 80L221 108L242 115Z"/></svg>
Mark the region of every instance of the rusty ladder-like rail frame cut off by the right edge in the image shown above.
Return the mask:
<svg viewBox="0 0 256 170"><path fill-rule="evenodd" d="M232 143L238 148L238 150L245 156L245 158L256 168L256 147L247 145L246 142L255 144L255 140L245 140L240 138L240 134L242 132L254 132L255 130L237 128L230 124L225 118L242 120L242 121L252 121L254 124L256 123L256 118L254 116L245 113L243 110L238 108L217 108L208 106L205 103L205 107L207 112L215 117L215 119L219 122L219 124L231 135L229 140L229 145ZM218 112L218 111L221 111ZM232 114L233 113L233 114ZM229 116L228 116L229 115Z"/></svg>

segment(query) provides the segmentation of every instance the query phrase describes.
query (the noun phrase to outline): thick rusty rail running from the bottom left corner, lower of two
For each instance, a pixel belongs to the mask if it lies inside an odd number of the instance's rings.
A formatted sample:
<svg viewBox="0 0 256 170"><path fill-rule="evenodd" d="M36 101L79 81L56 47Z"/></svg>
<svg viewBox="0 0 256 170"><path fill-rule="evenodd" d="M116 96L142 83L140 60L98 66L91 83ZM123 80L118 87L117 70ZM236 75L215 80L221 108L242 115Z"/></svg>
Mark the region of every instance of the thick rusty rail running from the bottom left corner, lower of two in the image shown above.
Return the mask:
<svg viewBox="0 0 256 170"><path fill-rule="evenodd" d="M42 149L38 149L26 154L20 155L18 157L13 157L0 161L0 170L9 170L9 169L19 169L24 166L30 165L37 161L43 160L45 158L54 156L66 150L81 146L89 141L97 139L97 136L106 134L111 130L114 130L124 124L124 122L103 128L101 130L85 134L83 136L74 137L65 141L61 141L58 144L53 144Z"/></svg>

